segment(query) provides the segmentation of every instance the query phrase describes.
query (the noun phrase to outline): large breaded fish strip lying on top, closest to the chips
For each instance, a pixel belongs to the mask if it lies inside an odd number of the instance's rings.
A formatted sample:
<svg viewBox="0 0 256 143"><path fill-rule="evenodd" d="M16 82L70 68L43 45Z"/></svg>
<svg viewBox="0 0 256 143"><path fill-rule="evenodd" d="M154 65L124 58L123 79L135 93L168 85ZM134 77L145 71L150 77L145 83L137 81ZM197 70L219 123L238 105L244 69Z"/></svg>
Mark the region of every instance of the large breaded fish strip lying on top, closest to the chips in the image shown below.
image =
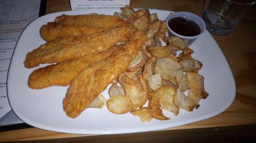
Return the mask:
<svg viewBox="0 0 256 143"><path fill-rule="evenodd" d="M123 48L107 59L91 64L77 76L67 90L63 108L67 116L76 118L90 102L120 76L138 55L146 40L145 31L136 31Z"/></svg>

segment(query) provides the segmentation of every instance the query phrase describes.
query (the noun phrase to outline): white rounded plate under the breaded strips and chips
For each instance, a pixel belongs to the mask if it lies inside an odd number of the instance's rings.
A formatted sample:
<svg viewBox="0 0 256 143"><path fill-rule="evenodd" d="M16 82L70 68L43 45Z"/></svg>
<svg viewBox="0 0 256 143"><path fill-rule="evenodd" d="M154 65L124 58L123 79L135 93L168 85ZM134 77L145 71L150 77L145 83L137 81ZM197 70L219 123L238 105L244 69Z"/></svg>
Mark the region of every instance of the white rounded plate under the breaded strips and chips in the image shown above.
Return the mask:
<svg viewBox="0 0 256 143"><path fill-rule="evenodd" d="M108 14L113 15L119 9L93 9L83 11L63 11L44 15L31 22L21 34L9 67L7 92L9 103L15 114L25 123L37 128L55 132L73 134L120 134L145 132L166 129L175 126L204 120L223 112L233 102L236 85L218 44L205 31L191 46L195 53L192 56L203 63L200 74L204 76L205 89L209 93L207 99L201 100L200 107L193 112L180 109L180 113L163 110L170 120L159 121L152 119L149 123L140 122L138 116L131 113L115 115L103 109L88 108L77 118L67 117L62 109L62 100L67 87L48 87L42 90L32 90L27 86L29 74L38 67L27 69L23 65L26 54L38 48L45 41L41 39L39 29L42 25L55 20L61 14ZM157 13L160 20L165 20L171 11L150 9L151 14ZM40 65L44 67L47 64ZM108 86L109 87L109 86ZM108 90L102 92L108 99Z"/></svg>

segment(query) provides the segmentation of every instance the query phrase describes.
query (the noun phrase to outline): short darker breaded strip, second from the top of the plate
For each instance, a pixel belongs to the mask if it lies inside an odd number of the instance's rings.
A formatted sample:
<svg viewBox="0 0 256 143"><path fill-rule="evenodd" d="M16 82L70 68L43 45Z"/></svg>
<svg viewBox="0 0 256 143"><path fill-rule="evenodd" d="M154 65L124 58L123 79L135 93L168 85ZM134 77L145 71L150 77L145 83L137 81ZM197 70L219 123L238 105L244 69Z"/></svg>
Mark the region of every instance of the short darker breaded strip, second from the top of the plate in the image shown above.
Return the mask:
<svg viewBox="0 0 256 143"><path fill-rule="evenodd" d="M92 26L63 25L56 22L48 22L40 28L40 35L45 41L50 41L64 36L78 36L82 34L94 34L108 30L109 28Z"/></svg>

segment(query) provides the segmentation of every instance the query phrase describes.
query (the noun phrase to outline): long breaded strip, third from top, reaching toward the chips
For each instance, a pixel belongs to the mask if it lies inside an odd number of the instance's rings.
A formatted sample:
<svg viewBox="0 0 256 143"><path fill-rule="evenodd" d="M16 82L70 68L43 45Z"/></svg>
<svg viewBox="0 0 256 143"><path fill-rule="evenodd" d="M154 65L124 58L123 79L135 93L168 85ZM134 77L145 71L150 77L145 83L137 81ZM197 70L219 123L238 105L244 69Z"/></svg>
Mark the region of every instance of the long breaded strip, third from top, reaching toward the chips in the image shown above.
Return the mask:
<svg viewBox="0 0 256 143"><path fill-rule="evenodd" d="M118 27L102 33L58 38L27 53L24 65L32 68L39 64L64 62L108 50L116 42L127 41L134 31L134 28Z"/></svg>

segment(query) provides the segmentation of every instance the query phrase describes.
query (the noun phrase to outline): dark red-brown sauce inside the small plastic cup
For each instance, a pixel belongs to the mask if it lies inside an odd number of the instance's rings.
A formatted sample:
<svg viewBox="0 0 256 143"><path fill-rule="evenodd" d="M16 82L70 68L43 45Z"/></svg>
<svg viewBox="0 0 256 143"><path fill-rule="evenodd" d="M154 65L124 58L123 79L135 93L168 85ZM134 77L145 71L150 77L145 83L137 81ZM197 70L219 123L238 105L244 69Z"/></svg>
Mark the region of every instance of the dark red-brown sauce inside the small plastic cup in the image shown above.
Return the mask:
<svg viewBox="0 0 256 143"><path fill-rule="evenodd" d="M182 36L196 36L201 33L199 26L192 20L175 17L168 22L169 27Z"/></svg>

